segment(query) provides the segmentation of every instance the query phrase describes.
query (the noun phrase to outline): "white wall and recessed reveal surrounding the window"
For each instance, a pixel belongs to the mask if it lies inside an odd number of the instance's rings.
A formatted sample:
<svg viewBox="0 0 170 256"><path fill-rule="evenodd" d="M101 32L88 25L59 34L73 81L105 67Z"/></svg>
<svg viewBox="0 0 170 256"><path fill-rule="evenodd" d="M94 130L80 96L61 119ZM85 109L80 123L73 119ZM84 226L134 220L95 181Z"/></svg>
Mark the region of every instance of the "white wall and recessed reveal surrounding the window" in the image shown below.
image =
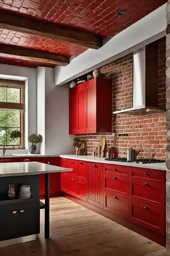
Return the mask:
<svg viewBox="0 0 170 256"><path fill-rule="evenodd" d="M25 81L25 148L27 149L28 135L37 131L37 70L34 68L0 64L0 78ZM18 153L17 150L10 150L8 154L14 152ZM19 154L27 152L28 150L19 150ZM1 153L2 150L0 150Z"/></svg>

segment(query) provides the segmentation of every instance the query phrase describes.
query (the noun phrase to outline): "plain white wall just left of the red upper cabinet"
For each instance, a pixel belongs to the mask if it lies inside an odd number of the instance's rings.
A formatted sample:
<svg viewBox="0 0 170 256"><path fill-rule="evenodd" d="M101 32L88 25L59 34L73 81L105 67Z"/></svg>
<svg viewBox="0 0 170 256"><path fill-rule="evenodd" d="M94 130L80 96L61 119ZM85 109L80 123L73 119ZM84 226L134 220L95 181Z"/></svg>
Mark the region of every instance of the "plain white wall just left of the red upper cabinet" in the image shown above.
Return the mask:
<svg viewBox="0 0 170 256"><path fill-rule="evenodd" d="M69 85L55 86L54 68L45 68L45 154L72 154Z"/></svg>

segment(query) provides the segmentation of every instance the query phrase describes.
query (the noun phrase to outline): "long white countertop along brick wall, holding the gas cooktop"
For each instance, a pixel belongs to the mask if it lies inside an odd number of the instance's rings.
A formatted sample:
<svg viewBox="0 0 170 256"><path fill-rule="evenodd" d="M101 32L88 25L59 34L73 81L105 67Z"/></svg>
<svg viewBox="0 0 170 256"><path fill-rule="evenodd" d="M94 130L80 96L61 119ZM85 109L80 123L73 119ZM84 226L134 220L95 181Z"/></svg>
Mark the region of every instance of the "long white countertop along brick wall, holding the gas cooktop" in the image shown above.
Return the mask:
<svg viewBox="0 0 170 256"><path fill-rule="evenodd" d="M162 171L167 170L165 163L135 164L135 163L127 163L127 162L107 161L107 160L104 160L105 158L94 157L94 156L76 156L76 155L59 155L59 156L63 157L63 158L88 161L88 162L96 162L96 163L102 163L102 164L126 165L126 166L133 166L133 167L146 168L146 169L155 169L155 170L162 170Z"/></svg>

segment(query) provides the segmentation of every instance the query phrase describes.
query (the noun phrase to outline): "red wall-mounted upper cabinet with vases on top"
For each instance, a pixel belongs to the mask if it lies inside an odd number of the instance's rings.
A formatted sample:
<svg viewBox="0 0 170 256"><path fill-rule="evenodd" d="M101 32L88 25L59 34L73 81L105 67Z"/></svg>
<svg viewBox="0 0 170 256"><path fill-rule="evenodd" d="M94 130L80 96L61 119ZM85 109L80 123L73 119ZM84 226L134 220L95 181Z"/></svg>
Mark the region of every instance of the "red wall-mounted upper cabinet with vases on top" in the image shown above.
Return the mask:
<svg viewBox="0 0 170 256"><path fill-rule="evenodd" d="M112 82L104 78L91 79L69 92L69 133L95 132L112 132Z"/></svg>

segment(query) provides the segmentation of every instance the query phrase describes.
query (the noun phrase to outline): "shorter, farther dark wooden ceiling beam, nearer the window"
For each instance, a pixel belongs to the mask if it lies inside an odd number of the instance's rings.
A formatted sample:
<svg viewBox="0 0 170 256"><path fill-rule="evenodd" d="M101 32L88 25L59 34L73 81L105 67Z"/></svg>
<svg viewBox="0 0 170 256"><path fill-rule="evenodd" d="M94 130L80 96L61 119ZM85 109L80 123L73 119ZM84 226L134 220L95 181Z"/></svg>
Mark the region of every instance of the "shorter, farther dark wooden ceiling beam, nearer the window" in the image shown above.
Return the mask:
<svg viewBox="0 0 170 256"><path fill-rule="evenodd" d="M0 56L15 57L22 60L40 61L48 64L66 66L70 58L65 55L53 54L22 46L0 44Z"/></svg>

